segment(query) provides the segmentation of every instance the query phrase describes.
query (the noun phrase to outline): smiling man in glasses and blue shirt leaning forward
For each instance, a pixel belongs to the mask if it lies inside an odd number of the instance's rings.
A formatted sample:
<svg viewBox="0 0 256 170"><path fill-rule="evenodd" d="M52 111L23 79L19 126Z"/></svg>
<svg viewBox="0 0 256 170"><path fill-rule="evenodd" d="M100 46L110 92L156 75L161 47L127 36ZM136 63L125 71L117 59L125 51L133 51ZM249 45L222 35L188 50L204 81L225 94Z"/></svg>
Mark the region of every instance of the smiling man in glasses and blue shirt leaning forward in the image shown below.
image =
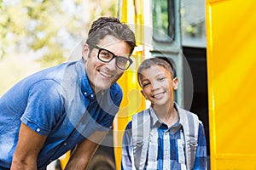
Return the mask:
<svg viewBox="0 0 256 170"><path fill-rule="evenodd" d="M0 99L0 169L45 169L73 150L66 169L85 169L119 110L116 81L131 65L131 29L112 17L90 27L82 59L39 71Z"/></svg>

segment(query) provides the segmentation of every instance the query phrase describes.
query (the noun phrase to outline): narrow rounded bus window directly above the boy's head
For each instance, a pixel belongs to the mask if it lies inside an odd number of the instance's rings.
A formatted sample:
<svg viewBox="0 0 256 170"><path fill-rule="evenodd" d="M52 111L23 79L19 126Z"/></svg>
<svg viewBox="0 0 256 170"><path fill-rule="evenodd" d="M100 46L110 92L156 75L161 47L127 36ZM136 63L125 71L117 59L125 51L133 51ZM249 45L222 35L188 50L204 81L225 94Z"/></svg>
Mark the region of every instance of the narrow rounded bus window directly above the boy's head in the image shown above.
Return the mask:
<svg viewBox="0 0 256 170"><path fill-rule="evenodd" d="M174 37L173 1L152 0L153 38L156 42L170 42Z"/></svg>

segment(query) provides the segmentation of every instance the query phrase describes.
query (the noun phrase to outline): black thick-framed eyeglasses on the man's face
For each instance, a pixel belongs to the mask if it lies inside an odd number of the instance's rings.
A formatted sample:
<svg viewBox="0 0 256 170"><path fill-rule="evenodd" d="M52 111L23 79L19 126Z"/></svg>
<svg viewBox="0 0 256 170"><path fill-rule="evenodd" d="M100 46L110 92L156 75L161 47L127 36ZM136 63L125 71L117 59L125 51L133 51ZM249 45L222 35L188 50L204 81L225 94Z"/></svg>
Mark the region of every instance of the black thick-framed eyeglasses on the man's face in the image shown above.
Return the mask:
<svg viewBox="0 0 256 170"><path fill-rule="evenodd" d="M123 56L117 56L111 51L108 51L108 49L100 48L98 46L94 46L94 48L99 50L98 59L100 59L104 63L109 63L112 59L115 59L115 65L123 71L128 69L129 66L132 64L132 59L128 59Z"/></svg>

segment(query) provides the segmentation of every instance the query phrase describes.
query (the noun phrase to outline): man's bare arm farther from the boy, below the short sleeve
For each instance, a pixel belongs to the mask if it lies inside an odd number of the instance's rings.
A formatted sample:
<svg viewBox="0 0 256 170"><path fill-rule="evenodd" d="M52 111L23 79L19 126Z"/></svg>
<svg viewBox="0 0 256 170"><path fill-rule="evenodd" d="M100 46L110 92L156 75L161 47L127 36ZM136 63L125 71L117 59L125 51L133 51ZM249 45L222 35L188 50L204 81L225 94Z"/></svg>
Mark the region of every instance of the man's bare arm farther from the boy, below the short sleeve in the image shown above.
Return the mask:
<svg viewBox="0 0 256 170"><path fill-rule="evenodd" d="M31 128L22 122L11 170L37 169L38 153L43 147L46 138L46 136L32 131Z"/></svg>

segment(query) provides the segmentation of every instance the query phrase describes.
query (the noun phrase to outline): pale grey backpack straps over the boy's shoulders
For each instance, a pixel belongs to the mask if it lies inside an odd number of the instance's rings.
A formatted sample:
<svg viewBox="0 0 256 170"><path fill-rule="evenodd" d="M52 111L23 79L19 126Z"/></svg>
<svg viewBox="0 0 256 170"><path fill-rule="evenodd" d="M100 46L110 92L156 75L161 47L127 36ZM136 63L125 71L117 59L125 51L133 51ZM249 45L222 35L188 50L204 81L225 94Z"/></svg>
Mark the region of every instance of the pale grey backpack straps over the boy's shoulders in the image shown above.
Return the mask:
<svg viewBox="0 0 256 170"><path fill-rule="evenodd" d="M143 170L147 159L150 133L152 131L150 109L141 111L132 116L132 147L134 166L137 170ZM179 109L180 122L183 125L185 142L185 156L187 169L193 169L195 164L195 151L198 139L199 119L195 114ZM157 159L157 154L153 154ZM156 166L156 165L155 165Z"/></svg>

